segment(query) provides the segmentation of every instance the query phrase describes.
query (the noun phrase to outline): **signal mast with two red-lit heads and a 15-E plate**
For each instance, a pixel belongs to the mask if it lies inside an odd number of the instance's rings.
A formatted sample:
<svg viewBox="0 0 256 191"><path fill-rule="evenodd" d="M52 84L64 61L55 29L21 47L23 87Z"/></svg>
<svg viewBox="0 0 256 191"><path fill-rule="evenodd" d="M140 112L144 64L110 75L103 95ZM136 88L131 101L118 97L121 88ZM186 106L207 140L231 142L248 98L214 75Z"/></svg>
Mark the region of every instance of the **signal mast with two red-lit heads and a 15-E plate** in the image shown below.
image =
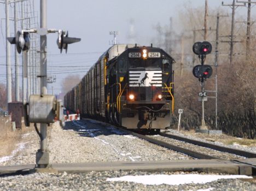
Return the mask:
<svg viewBox="0 0 256 191"><path fill-rule="evenodd" d="M206 100L207 92L205 92L205 81L212 75L211 65L205 65L206 55L212 52L212 45L208 41L197 42L193 45L193 52L198 55L201 65L196 65L193 68L193 75L201 82L201 92L199 96L202 101L202 125L199 128L200 133L208 133L208 127L205 124L205 108L204 102Z"/></svg>

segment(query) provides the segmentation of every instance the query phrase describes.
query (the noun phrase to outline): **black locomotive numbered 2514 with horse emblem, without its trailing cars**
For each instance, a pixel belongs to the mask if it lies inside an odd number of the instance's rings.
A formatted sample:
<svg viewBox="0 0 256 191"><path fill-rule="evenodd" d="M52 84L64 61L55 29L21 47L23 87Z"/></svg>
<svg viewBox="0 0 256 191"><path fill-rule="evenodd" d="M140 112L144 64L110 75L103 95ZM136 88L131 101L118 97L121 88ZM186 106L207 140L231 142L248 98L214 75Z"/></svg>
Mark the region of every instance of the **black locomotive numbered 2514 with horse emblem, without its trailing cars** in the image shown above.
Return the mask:
<svg viewBox="0 0 256 191"><path fill-rule="evenodd" d="M173 114L174 60L155 47L132 47L107 63L109 121L129 129L163 129Z"/></svg>

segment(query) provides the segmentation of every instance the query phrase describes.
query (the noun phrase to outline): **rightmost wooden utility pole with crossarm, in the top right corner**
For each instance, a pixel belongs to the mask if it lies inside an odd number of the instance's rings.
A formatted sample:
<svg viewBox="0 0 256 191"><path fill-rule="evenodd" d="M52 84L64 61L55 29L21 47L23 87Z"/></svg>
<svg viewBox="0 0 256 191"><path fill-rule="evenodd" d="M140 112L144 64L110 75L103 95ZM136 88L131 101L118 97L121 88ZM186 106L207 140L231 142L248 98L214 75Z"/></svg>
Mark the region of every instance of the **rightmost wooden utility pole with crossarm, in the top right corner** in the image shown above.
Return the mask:
<svg viewBox="0 0 256 191"><path fill-rule="evenodd" d="M256 2L248 1L236 1L237 3L248 3L247 8L247 29L246 29L246 59L251 56L251 5Z"/></svg>

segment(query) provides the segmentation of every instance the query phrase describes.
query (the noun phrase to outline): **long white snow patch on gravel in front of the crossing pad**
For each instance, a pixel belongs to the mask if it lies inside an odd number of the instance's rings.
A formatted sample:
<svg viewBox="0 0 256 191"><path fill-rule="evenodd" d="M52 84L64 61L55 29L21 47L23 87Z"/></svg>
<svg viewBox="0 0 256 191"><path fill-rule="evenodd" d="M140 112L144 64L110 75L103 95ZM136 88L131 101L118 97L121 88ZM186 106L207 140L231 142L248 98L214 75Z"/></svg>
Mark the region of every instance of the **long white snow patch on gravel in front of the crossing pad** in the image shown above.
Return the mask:
<svg viewBox="0 0 256 191"><path fill-rule="evenodd" d="M122 176L119 178L107 178L107 181L127 181L142 183L146 185L179 185L179 184L190 184L199 183L205 184L219 179L235 179L235 178L253 178L252 176L246 175L144 175L144 176Z"/></svg>

